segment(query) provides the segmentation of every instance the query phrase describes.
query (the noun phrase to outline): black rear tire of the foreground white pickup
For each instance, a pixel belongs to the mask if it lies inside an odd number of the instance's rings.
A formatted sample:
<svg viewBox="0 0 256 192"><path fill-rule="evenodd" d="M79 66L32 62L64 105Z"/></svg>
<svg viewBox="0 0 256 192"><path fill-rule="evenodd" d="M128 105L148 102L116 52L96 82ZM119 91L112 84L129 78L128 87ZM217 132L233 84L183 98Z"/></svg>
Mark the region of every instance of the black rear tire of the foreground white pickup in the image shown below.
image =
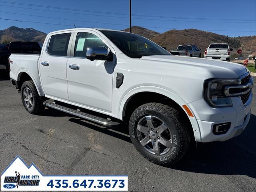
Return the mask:
<svg viewBox="0 0 256 192"><path fill-rule="evenodd" d="M31 104L26 104L25 98L26 95L24 94L24 90L28 90L30 95L29 99L31 100ZM36 86L32 80L23 82L21 89L20 89L20 96L22 100L22 104L26 108L26 110L31 114L40 114L42 110L44 109L44 106L42 104L42 100L40 96L38 95L38 92L36 90Z"/></svg>

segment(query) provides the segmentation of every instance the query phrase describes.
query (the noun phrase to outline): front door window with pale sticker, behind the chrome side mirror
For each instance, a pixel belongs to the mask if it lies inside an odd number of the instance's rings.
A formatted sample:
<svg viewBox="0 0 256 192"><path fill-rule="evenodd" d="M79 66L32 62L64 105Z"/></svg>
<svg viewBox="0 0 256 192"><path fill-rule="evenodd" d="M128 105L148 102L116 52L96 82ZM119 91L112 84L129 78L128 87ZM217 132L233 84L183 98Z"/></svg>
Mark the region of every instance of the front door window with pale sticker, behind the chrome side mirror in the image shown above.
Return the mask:
<svg viewBox="0 0 256 192"><path fill-rule="evenodd" d="M76 36L76 44L74 57L86 57L87 48L106 47L106 44L92 33L78 33Z"/></svg>

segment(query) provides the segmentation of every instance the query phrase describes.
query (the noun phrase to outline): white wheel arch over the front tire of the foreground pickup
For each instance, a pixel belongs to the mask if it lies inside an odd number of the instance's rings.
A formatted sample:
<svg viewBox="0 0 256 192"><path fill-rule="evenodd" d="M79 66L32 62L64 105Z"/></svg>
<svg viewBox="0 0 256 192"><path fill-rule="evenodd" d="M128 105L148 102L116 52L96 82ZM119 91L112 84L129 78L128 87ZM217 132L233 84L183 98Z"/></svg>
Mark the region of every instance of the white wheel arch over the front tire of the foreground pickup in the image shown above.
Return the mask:
<svg viewBox="0 0 256 192"><path fill-rule="evenodd" d="M190 133L194 135L196 141L201 141L200 128L197 120L190 117L182 105L186 102L177 94L168 90L152 86L137 87L130 90L120 104L119 119L127 121L132 112L140 105L148 102L160 102L175 107L190 124ZM191 110L191 109L190 109ZM192 110L191 110L192 111ZM194 113L193 113L194 114Z"/></svg>

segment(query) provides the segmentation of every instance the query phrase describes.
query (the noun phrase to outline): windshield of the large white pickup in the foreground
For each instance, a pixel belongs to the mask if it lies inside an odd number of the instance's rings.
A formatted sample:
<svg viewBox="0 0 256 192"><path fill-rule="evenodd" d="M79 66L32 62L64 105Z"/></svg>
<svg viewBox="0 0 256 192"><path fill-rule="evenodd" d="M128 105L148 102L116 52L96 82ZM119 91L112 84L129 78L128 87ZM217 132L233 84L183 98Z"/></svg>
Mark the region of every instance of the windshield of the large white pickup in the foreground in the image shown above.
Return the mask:
<svg viewBox="0 0 256 192"><path fill-rule="evenodd" d="M142 36L119 31L102 30L101 32L128 57L142 58L150 55L170 55L170 52Z"/></svg>

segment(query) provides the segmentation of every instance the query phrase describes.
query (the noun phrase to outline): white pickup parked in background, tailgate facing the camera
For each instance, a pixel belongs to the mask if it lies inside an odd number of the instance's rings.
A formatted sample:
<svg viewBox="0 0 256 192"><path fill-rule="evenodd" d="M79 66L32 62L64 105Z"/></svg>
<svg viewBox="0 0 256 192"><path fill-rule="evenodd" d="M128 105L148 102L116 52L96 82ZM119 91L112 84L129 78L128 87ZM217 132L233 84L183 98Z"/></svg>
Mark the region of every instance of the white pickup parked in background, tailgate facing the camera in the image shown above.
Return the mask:
<svg viewBox="0 0 256 192"><path fill-rule="evenodd" d="M232 50L226 43L212 43L204 51L204 58L230 61L230 51Z"/></svg>

